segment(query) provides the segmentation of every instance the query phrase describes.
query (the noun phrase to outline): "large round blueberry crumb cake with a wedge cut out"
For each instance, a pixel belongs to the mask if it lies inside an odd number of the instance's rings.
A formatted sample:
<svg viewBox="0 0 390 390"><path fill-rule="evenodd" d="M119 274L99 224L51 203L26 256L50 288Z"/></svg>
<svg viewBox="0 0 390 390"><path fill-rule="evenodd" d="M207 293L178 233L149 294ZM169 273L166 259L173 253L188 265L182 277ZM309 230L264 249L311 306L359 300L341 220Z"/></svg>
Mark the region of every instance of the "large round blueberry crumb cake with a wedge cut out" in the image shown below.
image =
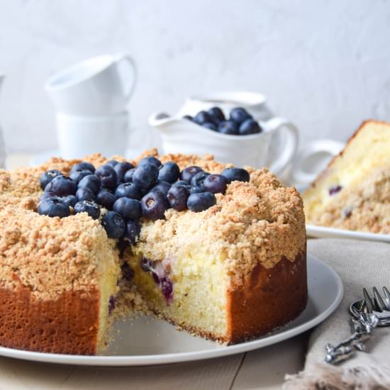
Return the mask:
<svg viewBox="0 0 390 390"><path fill-rule="evenodd" d="M299 194L211 156L0 170L0 262L0 345L23 350L101 352L123 281L156 315L227 343L307 299Z"/></svg>

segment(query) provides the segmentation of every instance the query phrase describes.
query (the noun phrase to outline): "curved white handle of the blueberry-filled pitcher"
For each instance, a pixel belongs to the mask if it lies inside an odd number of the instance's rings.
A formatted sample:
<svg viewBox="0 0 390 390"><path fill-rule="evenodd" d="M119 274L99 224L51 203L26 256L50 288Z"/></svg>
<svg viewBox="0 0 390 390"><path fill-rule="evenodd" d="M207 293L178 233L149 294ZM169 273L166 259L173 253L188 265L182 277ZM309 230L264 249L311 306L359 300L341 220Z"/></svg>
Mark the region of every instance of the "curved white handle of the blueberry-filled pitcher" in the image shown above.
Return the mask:
<svg viewBox="0 0 390 390"><path fill-rule="evenodd" d="M269 170L272 173L281 174L286 166L294 159L296 151L298 150L298 129L293 125L293 123L287 121L285 118L280 118L279 116L269 119L269 121L267 121L267 128L272 131L280 131L283 128L286 129L286 134L284 134L286 137L284 149L279 155L279 158L269 165Z"/></svg>

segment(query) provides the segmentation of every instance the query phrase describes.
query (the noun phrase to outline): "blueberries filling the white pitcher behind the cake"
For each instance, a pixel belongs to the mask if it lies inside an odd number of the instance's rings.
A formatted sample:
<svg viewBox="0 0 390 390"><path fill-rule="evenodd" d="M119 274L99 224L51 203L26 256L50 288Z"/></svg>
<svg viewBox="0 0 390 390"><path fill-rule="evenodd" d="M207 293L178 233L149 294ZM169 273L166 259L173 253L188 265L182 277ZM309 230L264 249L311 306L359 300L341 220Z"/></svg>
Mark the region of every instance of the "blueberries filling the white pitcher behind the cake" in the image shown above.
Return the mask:
<svg viewBox="0 0 390 390"><path fill-rule="evenodd" d="M229 118L225 118L225 114L219 107L199 111L194 118L189 115L183 118L222 134L250 135L262 132L259 123L242 107L233 108Z"/></svg>

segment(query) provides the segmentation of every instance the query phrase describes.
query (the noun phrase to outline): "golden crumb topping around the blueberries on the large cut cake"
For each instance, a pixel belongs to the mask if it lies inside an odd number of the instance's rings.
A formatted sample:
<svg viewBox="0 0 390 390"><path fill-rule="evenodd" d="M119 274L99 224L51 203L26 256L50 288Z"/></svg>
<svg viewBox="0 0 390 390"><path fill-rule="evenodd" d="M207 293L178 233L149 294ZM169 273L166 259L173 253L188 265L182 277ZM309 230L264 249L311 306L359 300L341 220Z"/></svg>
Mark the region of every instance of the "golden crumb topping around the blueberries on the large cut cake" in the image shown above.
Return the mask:
<svg viewBox="0 0 390 390"><path fill-rule="evenodd" d="M150 150L147 155L157 154ZM123 161L123 157L113 157ZM225 167L212 156L165 155L162 162L177 162L181 169L199 165L211 173ZM40 167L0 170L0 280L14 286L18 279L43 299L63 290L88 289L99 281L102 264L118 261L115 241L106 236L99 221L80 213L50 218L35 213L42 190L41 174L59 169L68 174L81 161L97 168L107 161L96 154L84 160L52 158ZM138 246L155 260L201 247L223 253L232 285L240 285L259 263L273 267L282 257L294 261L306 248L301 197L283 186L267 169L250 172L250 183L233 182L217 204L201 213L166 212L166 220L144 221ZM107 260L108 259L108 260Z"/></svg>

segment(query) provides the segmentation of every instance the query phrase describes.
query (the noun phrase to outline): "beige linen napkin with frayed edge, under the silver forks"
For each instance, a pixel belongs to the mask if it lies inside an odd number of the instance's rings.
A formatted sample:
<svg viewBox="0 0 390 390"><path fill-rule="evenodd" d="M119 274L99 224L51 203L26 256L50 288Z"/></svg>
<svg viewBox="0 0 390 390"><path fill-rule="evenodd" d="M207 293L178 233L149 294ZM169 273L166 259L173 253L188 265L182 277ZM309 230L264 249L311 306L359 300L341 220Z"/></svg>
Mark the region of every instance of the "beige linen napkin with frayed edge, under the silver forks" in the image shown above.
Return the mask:
<svg viewBox="0 0 390 390"><path fill-rule="evenodd" d="M362 288L390 289L390 244L309 240L308 253L339 274L344 297L335 313L311 333L305 367L299 374L286 375L284 389L390 389L390 327L374 329L366 352L356 352L337 366L324 362L325 344L335 345L351 334L348 308L362 299Z"/></svg>

